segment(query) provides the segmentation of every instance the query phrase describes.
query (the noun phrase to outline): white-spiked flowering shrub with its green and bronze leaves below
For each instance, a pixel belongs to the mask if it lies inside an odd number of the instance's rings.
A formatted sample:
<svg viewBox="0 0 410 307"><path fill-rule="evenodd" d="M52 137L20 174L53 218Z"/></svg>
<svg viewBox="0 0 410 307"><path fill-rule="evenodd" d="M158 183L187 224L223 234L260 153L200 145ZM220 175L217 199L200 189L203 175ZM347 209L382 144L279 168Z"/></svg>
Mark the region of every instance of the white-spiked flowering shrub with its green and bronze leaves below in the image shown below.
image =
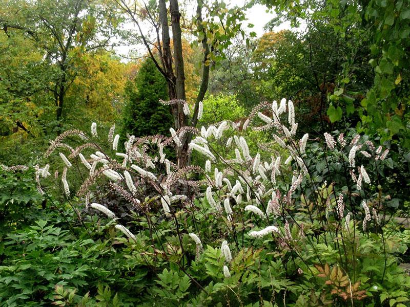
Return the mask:
<svg viewBox="0 0 410 307"><path fill-rule="evenodd" d="M403 306L410 277L397 255L406 239L386 233L388 150L357 134L299 139L297 127L291 101L262 103L243 124L190 129L190 150L208 159L204 168L167 159L164 148L178 146L182 128L172 137L132 136L115 157L104 151L111 142L90 159L79 145L60 173L87 175L76 197L101 216L95 225L114 226L101 233L127 243L113 249L130 270L152 273L142 277L149 287L137 305ZM250 149L251 128L272 141ZM67 131L49 151L76 134ZM67 177L59 179L72 198ZM108 191L124 203L113 206Z"/></svg>

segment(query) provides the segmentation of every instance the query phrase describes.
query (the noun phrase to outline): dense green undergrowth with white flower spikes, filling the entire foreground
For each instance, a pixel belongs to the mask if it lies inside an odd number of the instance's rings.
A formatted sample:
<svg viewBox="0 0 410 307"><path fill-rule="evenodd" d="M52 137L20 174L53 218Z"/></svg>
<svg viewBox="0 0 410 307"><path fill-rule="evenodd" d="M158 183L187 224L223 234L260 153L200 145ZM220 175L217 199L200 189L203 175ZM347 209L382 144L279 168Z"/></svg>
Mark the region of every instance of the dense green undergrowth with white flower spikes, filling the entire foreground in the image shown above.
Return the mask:
<svg viewBox="0 0 410 307"><path fill-rule="evenodd" d="M3 166L0 306L408 305L391 152L353 129L299 135L294 112L124 146L93 124Z"/></svg>

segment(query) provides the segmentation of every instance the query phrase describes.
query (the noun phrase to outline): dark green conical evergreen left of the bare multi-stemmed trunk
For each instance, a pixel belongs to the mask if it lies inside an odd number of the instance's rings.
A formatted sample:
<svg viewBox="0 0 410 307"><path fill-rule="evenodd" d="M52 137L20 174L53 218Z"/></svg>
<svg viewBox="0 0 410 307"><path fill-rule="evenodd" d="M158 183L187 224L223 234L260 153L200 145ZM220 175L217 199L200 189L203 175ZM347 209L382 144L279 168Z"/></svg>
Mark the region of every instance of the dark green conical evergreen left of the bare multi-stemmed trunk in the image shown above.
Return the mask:
<svg viewBox="0 0 410 307"><path fill-rule="evenodd" d="M142 62L134 79L126 88L127 104L122 115L123 133L136 137L169 135L173 126L171 109L159 100L168 100L167 82L148 58Z"/></svg>

